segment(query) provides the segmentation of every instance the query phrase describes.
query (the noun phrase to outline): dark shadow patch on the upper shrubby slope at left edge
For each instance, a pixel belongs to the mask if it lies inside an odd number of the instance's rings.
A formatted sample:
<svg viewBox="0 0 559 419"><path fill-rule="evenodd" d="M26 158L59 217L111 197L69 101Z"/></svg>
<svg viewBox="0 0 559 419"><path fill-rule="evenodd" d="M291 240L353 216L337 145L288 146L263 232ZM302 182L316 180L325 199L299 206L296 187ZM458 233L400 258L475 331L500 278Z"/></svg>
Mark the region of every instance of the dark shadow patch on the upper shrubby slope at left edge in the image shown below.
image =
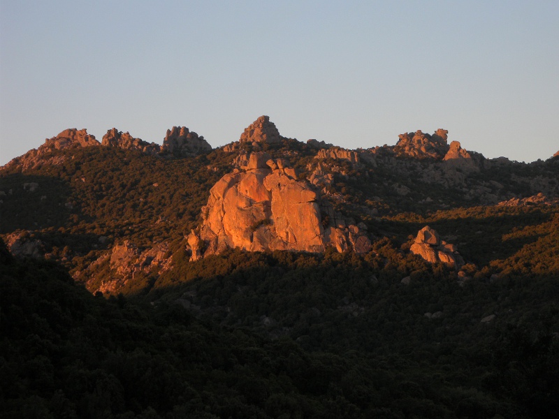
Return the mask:
<svg viewBox="0 0 559 419"><path fill-rule="evenodd" d="M79 210L68 202L71 186L55 177L22 175L0 177L0 233L65 226Z"/></svg>

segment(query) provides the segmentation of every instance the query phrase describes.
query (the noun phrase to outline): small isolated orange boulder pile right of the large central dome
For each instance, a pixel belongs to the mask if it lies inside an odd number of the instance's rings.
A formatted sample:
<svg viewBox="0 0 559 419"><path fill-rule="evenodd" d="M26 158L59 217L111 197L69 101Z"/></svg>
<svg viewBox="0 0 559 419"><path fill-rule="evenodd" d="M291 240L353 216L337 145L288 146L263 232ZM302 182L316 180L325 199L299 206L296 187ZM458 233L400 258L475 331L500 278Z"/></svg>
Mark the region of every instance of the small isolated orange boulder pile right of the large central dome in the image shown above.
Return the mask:
<svg viewBox="0 0 559 419"><path fill-rule="evenodd" d="M429 263L442 262L450 267L460 268L464 260L455 244L440 239L439 233L425 226L419 230L414 244L409 248L414 255L419 255Z"/></svg>

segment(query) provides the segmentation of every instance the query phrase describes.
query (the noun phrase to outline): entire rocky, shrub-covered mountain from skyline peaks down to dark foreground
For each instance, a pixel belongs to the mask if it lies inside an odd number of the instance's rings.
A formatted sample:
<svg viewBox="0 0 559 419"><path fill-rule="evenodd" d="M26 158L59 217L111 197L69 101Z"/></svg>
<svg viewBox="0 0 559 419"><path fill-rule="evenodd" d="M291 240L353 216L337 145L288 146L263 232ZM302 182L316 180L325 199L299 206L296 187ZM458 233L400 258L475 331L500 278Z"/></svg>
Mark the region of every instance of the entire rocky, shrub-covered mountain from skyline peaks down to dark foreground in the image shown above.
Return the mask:
<svg viewBox="0 0 559 419"><path fill-rule="evenodd" d="M13 159L0 416L548 418L559 156L460 142L263 116L215 149L71 129Z"/></svg>

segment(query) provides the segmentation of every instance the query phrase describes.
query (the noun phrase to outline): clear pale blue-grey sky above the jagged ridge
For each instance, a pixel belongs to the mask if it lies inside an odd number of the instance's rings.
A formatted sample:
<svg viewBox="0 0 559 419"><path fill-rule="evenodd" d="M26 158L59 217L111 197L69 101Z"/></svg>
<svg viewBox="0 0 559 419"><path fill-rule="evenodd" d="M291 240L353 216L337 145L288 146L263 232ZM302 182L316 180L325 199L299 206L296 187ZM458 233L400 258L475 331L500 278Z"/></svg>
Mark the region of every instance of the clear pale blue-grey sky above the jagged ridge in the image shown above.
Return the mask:
<svg viewBox="0 0 559 419"><path fill-rule="evenodd" d="M0 164L66 128L212 147L269 115L356 149L421 129L559 150L559 1L0 0Z"/></svg>

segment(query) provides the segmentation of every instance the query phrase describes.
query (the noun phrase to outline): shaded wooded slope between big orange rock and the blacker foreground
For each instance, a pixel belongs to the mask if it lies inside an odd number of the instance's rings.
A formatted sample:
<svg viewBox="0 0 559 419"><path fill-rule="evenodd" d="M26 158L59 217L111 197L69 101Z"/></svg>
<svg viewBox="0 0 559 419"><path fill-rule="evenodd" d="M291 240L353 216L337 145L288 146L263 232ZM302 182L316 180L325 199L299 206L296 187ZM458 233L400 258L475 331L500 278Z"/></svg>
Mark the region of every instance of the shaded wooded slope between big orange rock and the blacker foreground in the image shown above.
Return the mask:
<svg viewBox="0 0 559 419"><path fill-rule="evenodd" d="M558 292L549 275L530 281L479 278L460 286L456 277L428 271L412 274L405 285L403 274L391 267L302 253L279 256L212 256L176 266L147 295L129 297L155 306L177 304L202 321L272 339L289 336L309 350L327 350L335 342L343 351L389 355L394 348L409 351L416 339L426 345L419 356L424 359L440 350L435 342L468 345L465 335L486 334L490 328L481 319L488 314L497 314L492 326L540 321L542 307L551 307ZM409 260L402 267L413 269ZM440 317L426 316L437 312Z"/></svg>

